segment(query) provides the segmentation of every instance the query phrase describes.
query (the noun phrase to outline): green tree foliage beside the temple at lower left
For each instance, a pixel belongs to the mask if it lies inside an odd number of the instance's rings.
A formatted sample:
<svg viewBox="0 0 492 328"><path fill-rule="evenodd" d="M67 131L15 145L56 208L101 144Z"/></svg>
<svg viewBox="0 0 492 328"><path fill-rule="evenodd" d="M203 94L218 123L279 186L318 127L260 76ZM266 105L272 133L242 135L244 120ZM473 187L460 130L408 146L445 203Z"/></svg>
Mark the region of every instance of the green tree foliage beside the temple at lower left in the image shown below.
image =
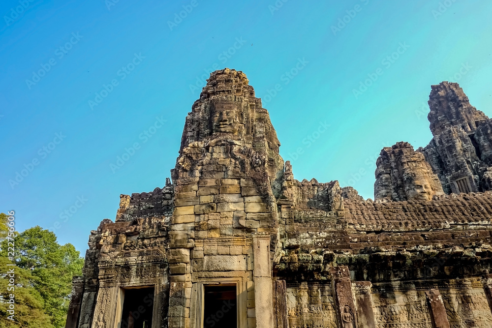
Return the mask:
<svg viewBox="0 0 492 328"><path fill-rule="evenodd" d="M7 242L1 241L1 267L11 263ZM15 236L15 319L23 328L63 328L70 301L72 276L82 274L83 259L75 247L60 245L55 234L36 226ZM0 328L6 321L8 277L0 274Z"/></svg>

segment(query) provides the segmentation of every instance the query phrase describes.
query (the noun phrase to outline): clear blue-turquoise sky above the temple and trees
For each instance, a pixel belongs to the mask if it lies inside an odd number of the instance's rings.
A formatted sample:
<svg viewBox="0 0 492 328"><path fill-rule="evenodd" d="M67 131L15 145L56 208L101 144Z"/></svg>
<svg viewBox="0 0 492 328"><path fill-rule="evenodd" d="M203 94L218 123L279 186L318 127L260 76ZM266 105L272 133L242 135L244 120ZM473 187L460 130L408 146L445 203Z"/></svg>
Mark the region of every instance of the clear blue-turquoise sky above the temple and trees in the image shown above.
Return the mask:
<svg viewBox="0 0 492 328"><path fill-rule="evenodd" d="M83 255L165 184L215 68L246 73L296 179L365 198L382 147L431 140L432 84L492 116L492 1L284 1L1 1L0 210Z"/></svg>

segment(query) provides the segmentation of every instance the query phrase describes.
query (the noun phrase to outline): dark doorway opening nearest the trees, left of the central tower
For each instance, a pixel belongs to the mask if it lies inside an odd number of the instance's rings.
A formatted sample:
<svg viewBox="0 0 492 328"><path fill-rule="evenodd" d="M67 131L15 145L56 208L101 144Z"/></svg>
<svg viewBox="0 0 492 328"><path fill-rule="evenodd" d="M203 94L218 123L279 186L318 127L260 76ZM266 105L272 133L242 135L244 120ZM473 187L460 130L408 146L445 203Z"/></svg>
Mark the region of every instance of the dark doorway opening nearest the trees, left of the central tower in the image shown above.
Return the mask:
<svg viewBox="0 0 492 328"><path fill-rule="evenodd" d="M124 289L120 328L152 328L154 287Z"/></svg>

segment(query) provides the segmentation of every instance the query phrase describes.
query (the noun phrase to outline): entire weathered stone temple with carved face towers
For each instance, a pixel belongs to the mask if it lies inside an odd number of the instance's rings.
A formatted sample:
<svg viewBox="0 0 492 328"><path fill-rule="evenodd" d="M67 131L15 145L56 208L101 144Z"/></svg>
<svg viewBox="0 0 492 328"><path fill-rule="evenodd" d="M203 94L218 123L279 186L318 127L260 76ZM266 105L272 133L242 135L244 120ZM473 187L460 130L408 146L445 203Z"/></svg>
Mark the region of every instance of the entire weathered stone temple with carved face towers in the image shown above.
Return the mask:
<svg viewBox="0 0 492 328"><path fill-rule="evenodd" d="M246 75L211 74L163 188L89 237L67 328L491 328L492 121L432 86L433 139L374 201L298 181Z"/></svg>

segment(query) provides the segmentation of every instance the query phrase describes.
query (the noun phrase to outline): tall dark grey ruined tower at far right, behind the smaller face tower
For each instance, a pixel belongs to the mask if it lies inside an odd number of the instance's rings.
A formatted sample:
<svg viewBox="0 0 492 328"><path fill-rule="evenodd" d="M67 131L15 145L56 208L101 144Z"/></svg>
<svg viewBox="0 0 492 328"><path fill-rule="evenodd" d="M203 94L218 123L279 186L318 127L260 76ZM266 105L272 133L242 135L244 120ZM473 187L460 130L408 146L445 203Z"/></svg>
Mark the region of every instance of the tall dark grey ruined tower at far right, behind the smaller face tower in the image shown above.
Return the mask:
<svg viewBox="0 0 492 328"><path fill-rule="evenodd" d="M492 189L492 122L470 105L457 83L432 86L428 119L434 138L424 149L447 194Z"/></svg>

